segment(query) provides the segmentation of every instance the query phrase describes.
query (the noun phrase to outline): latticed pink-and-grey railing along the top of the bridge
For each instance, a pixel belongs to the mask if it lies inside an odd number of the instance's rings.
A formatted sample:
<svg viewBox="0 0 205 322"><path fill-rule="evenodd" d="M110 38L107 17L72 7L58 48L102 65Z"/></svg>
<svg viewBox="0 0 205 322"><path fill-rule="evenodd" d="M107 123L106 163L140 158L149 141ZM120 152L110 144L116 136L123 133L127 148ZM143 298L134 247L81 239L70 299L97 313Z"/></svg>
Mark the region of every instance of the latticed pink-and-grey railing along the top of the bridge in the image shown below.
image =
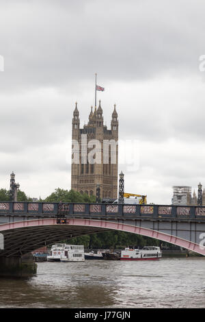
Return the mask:
<svg viewBox="0 0 205 322"><path fill-rule="evenodd" d="M106 203L45 203L0 202L1 214L42 215L103 215L103 216L161 216L177 218L205 218L205 207L170 205L131 205Z"/></svg>

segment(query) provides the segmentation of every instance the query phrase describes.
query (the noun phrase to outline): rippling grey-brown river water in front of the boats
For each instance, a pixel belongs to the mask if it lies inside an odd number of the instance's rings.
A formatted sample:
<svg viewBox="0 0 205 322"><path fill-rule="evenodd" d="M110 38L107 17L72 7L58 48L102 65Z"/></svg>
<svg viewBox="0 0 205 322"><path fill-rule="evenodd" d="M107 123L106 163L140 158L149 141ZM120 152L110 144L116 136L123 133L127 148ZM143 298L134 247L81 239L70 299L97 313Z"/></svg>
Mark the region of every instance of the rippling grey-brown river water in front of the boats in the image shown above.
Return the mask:
<svg viewBox="0 0 205 322"><path fill-rule="evenodd" d="M1 308L204 308L205 258L38 263L0 279Z"/></svg>

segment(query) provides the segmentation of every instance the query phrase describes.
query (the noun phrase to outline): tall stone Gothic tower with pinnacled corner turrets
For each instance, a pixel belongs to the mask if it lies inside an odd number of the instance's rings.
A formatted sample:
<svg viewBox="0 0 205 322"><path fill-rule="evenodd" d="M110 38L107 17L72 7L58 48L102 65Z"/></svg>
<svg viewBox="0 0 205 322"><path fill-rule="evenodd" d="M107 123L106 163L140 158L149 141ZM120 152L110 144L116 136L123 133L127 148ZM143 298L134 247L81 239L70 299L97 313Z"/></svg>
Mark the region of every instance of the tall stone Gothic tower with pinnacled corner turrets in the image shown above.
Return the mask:
<svg viewBox="0 0 205 322"><path fill-rule="evenodd" d="M111 129L107 129L99 101L81 129L76 103L72 119L71 188L96 195L98 184L101 199L118 198L118 113L114 106Z"/></svg>

